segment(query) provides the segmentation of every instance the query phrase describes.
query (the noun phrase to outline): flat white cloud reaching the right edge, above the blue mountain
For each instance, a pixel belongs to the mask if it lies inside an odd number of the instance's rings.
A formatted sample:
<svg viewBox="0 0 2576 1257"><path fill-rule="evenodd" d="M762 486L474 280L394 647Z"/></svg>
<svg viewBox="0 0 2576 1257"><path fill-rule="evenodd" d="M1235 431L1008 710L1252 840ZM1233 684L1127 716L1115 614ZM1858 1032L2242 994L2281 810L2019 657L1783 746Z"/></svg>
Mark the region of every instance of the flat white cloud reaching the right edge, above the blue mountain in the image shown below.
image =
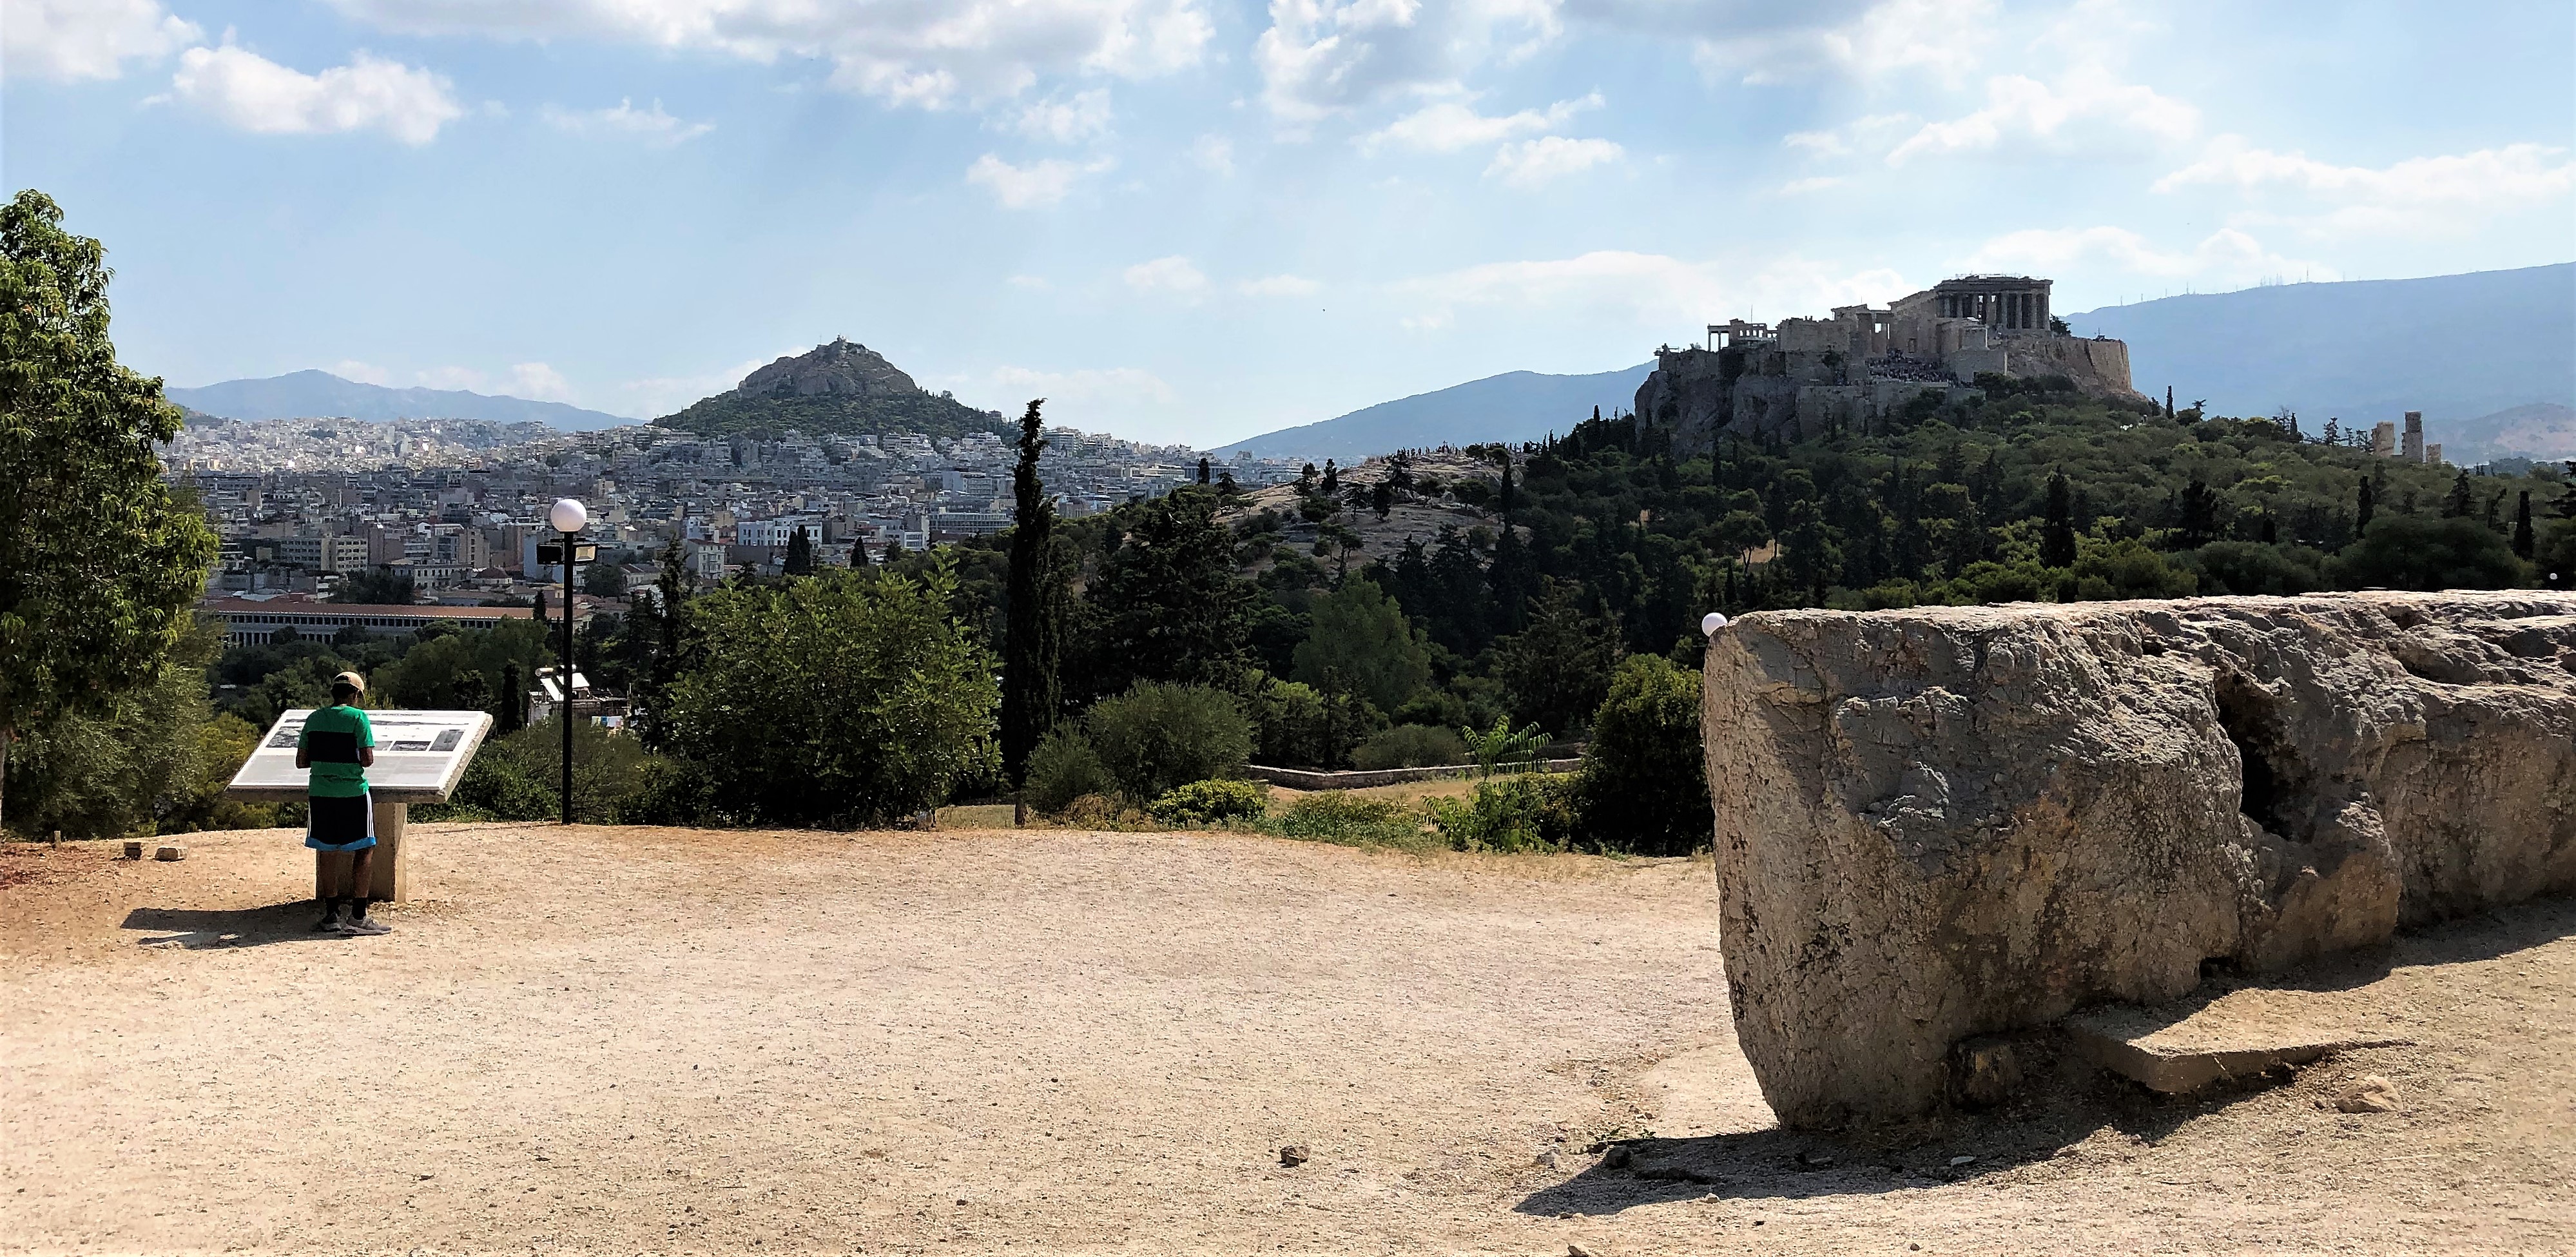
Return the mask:
<svg viewBox="0 0 2576 1257"><path fill-rule="evenodd" d="M2197 162L2156 180L2159 193L2187 188L2306 198L2318 214L2295 222L2329 234L2463 232L2486 216L2563 201L2576 188L2576 162L2566 149L2506 144L2372 170L2218 137Z"/></svg>

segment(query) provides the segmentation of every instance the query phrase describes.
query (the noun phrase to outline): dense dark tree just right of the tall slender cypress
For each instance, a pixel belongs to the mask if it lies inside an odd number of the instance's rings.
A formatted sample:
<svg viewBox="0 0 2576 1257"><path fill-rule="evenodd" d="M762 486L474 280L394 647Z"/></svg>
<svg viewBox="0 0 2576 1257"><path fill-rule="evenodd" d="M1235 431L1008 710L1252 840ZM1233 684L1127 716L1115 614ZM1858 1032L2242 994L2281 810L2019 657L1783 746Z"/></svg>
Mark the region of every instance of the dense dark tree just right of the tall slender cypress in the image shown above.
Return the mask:
<svg viewBox="0 0 2576 1257"><path fill-rule="evenodd" d="M1136 680L1236 685L1252 659L1255 590L1234 574L1234 533L1211 489L1180 487L1110 515L1113 549L1090 585L1092 693Z"/></svg>

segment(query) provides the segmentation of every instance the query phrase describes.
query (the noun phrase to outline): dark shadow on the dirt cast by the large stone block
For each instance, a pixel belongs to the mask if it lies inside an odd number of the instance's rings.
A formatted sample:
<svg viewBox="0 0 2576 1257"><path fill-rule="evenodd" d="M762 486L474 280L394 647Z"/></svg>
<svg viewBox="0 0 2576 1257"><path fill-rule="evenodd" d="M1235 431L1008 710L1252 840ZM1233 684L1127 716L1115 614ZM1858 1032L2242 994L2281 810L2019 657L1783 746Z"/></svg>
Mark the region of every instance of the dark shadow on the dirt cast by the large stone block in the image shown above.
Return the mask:
<svg viewBox="0 0 2576 1257"><path fill-rule="evenodd" d="M2339 992L2367 987L2398 966L2473 963L2576 938L2576 899L2527 904L2403 932L2388 945L2334 956L2285 974L2213 981L2177 1005L2205 1007L2226 989ZM2228 1079L2190 1095L2159 1095L2094 1069L2053 1030L2025 1041L2030 1084L1984 1113L1945 1113L1873 1131L1749 1131L1703 1139L1625 1139L1566 1182L1515 1205L1533 1216L1602 1216L1672 1200L1801 1200L1942 1187L2032 1162L2084 1159L2102 1133L2117 1144L2159 1144L2182 1123L2269 1092L2295 1069ZM1963 1164L1955 1159L1968 1157Z"/></svg>

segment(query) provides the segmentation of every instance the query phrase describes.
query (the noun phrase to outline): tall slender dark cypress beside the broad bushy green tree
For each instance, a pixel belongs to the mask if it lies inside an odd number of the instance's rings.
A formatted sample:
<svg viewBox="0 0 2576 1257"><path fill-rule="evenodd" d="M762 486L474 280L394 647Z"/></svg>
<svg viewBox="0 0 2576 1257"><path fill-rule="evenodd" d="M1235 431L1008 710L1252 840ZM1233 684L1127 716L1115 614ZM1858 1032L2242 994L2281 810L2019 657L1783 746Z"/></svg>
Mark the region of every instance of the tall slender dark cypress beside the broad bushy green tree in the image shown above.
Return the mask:
<svg viewBox="0 0 2576 1257"><path fill-rule="evenodd" d="M1002 634L1002 775L1018 786L1028 773L1028 752L1056 726L1064 708L1064 574L1056 567L1056 505L1038 482L1038 407L1020 415L1020 466L1010 477L1010 618ZM1200 482L1208 464L1198 464Z"/></svg>

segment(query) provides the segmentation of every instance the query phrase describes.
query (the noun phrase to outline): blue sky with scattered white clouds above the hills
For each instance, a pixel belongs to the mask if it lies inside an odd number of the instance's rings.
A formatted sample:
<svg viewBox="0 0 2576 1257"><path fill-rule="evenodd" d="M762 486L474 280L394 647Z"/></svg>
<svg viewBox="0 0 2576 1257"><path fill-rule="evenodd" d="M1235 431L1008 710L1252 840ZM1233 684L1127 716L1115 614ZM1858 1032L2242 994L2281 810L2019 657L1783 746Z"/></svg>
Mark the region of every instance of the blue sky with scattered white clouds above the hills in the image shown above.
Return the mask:
<svg viewBox="0 0 2576 1257"><path fill-rule="evenodd" d="M121 358L667 415L845 335L1221 446L1971 270L2576 258L2576 5L0 0Z"/></svg>

